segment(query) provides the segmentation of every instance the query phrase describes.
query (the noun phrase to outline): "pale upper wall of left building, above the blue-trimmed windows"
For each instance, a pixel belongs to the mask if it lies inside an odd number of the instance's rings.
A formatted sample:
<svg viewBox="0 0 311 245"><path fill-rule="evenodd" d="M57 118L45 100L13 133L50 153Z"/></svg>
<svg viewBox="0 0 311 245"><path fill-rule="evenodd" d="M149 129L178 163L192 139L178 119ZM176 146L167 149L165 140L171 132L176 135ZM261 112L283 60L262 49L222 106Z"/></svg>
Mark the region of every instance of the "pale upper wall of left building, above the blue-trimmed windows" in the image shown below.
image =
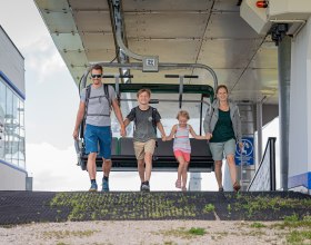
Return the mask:
<svg viewBox="0 0 311 245"><path fill-rule="evenodd" d="M0 26L0 71L24 95L24 59Z"/></svg>

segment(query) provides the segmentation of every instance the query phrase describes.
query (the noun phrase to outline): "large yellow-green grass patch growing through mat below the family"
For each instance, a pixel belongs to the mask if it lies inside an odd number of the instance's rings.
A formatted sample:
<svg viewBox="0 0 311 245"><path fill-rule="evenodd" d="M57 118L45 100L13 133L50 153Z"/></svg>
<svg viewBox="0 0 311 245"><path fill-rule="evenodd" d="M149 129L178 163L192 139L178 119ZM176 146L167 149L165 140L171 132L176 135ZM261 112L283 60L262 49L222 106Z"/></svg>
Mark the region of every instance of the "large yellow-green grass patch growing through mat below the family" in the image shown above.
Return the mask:
<svg viewBox="0 0 311 245"><path fill-rule="evenodd" d="M193 218L202 215L198 198L200 194L60 193L50 206L69 209L68 220Z"/></svg>

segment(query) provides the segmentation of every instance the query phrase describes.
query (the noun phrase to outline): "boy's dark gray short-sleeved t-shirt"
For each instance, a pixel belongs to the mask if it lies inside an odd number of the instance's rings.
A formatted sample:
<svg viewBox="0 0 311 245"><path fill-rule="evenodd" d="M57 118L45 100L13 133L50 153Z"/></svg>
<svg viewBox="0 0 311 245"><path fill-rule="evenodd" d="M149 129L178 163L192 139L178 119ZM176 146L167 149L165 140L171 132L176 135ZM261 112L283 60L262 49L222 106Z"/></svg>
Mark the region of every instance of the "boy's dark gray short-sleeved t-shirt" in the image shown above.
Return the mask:
<svg viewBox="0 0 311 245"><path fill-rule="evenodd" d="M152 110L156 108L149 107L147 110L141 110L139 107L133 108L127 118L132 121L134 120L134 133L133 140L146 143L149 139L157 139L157 129L154 130L152 124ZM158 124L161 120L161 116L156 109L154 119Z"/></svg>

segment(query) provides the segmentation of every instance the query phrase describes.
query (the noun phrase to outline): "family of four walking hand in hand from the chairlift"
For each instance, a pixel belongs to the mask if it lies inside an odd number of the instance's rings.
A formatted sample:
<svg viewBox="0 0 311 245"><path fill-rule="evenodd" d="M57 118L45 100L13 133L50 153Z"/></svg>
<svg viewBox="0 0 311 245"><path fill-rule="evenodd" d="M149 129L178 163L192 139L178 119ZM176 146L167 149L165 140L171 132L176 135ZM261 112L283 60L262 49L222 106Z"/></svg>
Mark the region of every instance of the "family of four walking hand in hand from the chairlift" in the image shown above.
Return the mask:
<svg viewBox="0 0 311 245"><path fill-rule="evenodd" d="M214 174L219 192L222 186L222 159L227 158L229 165L232 187L235 192L241 188L237 179L234 163L235 143L242 148L241 119L239 108L228 99L228 88L218 86L215 99L208 108L203 128L205 136L195 134L191 125L188 111L180 110L177 115L178 124L165 135L161 124L159 111L149 105L151 91L140 89L137 92L138 106L132 108L123 120L116 91L112 86L103 86L102 67L94 65L91 68L91 86L84 88L80 95L80 105L77 114L73 138L78 139L79 127L86 119L84 143L88 154L87 169L89 171L91 187L90 192L98 190L96 180L97 156L102 157L102 192L109 192L109 174L111 169L111 108L120 124L120 135L126 136L126 127L133 121L133 148L138 161L138 171L141 179L140 190L150 192L150 177L152 170L152 155L156 148L157 128L161 133L163 141L173 139L173 153L179 163L175 187L187 190L187 170L191 159L191 145L189 135L195 139L209 140L209 147L214 160Z"/></svg>

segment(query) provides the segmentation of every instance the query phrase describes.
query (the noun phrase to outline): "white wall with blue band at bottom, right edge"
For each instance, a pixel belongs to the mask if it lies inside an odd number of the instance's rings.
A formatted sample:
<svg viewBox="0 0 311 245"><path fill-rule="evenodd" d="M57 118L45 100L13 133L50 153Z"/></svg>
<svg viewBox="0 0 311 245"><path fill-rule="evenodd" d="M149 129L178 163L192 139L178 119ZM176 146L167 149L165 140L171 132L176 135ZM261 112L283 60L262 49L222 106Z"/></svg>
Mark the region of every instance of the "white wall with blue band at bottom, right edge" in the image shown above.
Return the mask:
<svg viewBox="0 0 311 245"><path fill-rule="evenodd" d="M311 18L292 40L289 188L311 189Z"/></svg>

